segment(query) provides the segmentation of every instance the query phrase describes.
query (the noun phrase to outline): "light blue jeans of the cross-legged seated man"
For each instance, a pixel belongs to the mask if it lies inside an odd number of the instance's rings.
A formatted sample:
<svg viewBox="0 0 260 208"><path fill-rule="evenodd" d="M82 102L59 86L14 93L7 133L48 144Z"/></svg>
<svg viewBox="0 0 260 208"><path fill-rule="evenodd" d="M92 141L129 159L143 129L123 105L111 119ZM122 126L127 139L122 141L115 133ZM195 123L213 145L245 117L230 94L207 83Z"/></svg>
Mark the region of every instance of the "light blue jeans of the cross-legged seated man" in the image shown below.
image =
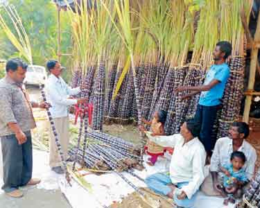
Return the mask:
<svg viewBox="0 0 260 208"><path fill-rule="evenodd" d="M146 177L146 185L148 188L155 191L155 193L159 193L162 195L167 195L171 192L171 188L167 186L167 184L171 184L171 177L169 175L166 175L166 173L155 173L153 175L150 175L149 177ZM187 185L189 182L181 182L175 184L175 186L179 189ZM177 206L184 207L184 208L191 208L195 204L197 192L193 194L191 199L185 198L184 200L177 199L176 196L173 197L174 202Z"/></svg>

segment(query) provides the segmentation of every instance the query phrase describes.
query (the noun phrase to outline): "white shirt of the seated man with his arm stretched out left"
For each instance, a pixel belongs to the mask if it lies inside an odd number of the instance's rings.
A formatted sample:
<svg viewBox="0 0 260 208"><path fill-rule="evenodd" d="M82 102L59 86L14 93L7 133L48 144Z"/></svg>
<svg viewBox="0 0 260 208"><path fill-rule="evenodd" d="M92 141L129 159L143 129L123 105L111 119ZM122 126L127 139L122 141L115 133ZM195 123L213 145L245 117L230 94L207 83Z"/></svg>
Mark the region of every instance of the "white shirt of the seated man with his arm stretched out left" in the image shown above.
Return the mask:
<svg viewBox="0 0 260 208"><path fill-rule="evenodd" d="M148 132L146 135L160 146L174 148L170 165L171 181L173 184L189 182L182 187L182 191L190 199L205 180L206 152L200 140L196 137L184 144L184 137L180 134L152 137Z"/></svg>

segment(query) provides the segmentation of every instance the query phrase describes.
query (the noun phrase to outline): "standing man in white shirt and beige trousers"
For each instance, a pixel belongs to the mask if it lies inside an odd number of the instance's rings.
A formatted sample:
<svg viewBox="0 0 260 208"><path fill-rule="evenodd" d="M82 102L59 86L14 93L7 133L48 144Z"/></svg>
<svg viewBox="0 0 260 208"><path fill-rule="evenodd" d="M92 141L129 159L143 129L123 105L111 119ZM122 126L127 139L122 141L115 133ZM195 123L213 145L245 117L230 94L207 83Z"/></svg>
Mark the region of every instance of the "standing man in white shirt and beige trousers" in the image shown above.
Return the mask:
<svg viewBox="0 0 260 208"><path fill-rule="evenodd" d="M86 98L72 99L71 95L80 93L80 87L71 89L60 76L62 67L56 60L49 60L46 64L51 75L46 80L46 98L51 104L50 112L53 117L56 132L62 146L64 158L67 158L67 150L69 146L69 106L84 103ZM61 159L58 154L58 148L55 144L55 137L50 128L51 138L49 141L49 165L52 171L62 174Z"/></svg>

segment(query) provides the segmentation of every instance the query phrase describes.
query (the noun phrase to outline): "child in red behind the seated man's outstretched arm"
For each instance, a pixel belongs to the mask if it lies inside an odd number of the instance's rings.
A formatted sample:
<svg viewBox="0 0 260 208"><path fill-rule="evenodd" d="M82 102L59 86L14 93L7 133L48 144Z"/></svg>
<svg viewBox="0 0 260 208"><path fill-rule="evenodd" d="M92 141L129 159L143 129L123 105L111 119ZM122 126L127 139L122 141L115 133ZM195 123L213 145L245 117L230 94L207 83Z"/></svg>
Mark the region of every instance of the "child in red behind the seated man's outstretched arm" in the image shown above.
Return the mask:
<svg viewBox="0 0 260 208"><path fill-rule="evenodd" d="M165 135L164 132L164 123L166 122L167 113L164 110L158 110L155 112L152 121L146 121L146 119L142 119L146 125L150 125L151 135L152 136L162 136ZM145 128L143 125L139 127L142 132L145 132ZM153 141L147 142L147 154L151 157L148 159L147 164L150 166L154 166L157 161L157 157L160 155L164 155L164 148L155 144Z"/></svg>

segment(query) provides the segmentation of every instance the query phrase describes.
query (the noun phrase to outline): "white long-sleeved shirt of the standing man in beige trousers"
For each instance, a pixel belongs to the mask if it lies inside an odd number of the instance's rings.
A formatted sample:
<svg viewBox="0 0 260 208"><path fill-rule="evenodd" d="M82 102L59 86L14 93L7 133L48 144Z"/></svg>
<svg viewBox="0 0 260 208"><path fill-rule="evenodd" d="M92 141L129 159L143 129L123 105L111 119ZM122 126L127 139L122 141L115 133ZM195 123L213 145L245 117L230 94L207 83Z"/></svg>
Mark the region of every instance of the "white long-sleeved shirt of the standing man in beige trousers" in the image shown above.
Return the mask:
<svg viewBox="0 0 260 208"><path fill-rule="evenodd" d="M53 74L49 76L45 84L46 99L51 104L51 115L53 119L69 116L69 105L75 105L76 99L69 96L80 93L80 87L71 88L62 77L57 78Z"/></svg>

